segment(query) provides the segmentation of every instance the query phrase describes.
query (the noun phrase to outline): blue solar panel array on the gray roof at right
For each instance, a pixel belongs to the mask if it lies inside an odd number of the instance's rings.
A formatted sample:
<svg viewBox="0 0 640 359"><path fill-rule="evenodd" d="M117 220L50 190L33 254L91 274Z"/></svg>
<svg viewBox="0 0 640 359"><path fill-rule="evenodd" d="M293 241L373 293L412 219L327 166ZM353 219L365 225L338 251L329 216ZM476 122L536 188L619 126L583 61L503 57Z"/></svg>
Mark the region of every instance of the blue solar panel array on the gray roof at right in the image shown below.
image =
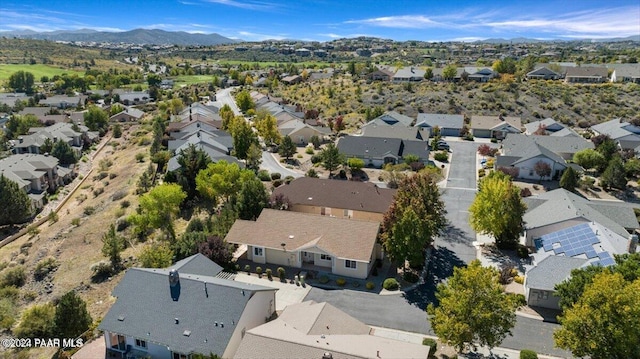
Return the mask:
<svg viewBox="0 0 640 359"><path fill-rule="evenodd" d="M564 253L567 257L575 257L584 254L591 259L598 257L593 248L597 243L600 239L589 223L583 223L540 237L539 246L547 252L553 250L556 255Z"/></svg>

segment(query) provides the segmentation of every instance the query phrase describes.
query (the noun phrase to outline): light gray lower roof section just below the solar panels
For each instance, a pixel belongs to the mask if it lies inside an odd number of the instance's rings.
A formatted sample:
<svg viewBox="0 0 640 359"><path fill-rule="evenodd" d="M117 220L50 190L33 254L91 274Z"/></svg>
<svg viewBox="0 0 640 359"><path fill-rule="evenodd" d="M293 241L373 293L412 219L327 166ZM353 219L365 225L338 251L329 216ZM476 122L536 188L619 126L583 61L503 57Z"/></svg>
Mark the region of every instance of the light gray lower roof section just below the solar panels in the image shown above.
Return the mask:
<svg viewBox="0 0 640 359"><path fill-rule="evenodd" d="M554 290L556 284L571 276L571 271L582 267L586 259L565 256L548 256L527 272L527 287Z"/></svg>

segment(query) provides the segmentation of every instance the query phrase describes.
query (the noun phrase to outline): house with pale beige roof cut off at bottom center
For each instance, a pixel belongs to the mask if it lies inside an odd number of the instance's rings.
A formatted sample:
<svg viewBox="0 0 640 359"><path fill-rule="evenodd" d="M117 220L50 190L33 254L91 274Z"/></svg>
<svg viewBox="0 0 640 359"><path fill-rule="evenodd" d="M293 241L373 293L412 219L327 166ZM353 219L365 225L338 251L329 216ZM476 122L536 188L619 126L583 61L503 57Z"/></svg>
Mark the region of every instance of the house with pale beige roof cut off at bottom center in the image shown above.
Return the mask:
<svg viewBox="0 0 640 359"><path fill-rule="evenodd" d="M328 303L287 306L277 319L247 331L235 359L424 359L430 348L377 337L374 330Z"/></svg>

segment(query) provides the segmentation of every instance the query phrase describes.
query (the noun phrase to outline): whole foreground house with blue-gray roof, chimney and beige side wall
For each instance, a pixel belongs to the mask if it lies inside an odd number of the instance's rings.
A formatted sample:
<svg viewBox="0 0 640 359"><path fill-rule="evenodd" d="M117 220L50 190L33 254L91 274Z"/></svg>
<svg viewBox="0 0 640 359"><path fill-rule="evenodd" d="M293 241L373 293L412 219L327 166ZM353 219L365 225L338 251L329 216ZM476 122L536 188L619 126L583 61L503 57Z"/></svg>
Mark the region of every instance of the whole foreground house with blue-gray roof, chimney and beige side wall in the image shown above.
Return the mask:
<svg viewBox="0 0 640 359"><path fill-rule="evenodd" d="M201 254L128 269L98 326L108 357L232 358L246 332L274 314L277 289L217 278L221 270Z"/></svg>

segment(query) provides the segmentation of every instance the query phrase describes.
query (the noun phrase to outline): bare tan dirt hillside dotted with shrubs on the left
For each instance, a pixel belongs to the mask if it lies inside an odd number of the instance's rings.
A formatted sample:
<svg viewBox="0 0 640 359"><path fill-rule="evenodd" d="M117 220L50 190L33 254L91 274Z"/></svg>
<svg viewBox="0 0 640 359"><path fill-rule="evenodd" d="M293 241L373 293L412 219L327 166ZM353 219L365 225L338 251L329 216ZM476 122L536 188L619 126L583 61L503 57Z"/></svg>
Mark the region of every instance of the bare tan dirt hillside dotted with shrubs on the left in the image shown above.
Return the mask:
<svg viewBox="0 0 640 359"><path fill-rule="evenodd" d="M119 278L92 283L90 268L93 263L105 259L101 254L101 238L109 225L114 223L117 217L131 214L137 207L136 182L149 166L148 146L139 146L133 136L137 130L138 126L133 126L125 130L122 138L104 138L102 141L107 144L102 150L87 155L87 164L91 165L93 171L75 192L69 194L71 198L60 208L57 222L47 221L38 227L37 235L27 234L0 248L0 261L9 262L10 266L25 266L27 282L21 288L21 294L23 298L28 294L26 297L33 299L23 299L23 308L49 302L71 289L76 289L87 302L94 320L102 318L109 309L110 293ZM145 154L144 162L136 160L138 153ZM112 162L106 171L111 176L98 179L95 176L99 172L98 167L102 160ZM78 176L60 193L69 192L80 180ZM104 192L94 195L96 189L103 189ZM124 192L125 196L113 200L116 192ZM86 199L81 201L85 196ZM123 209L121 203L125 200L129 201L130 205ZM91 212L88 210L90 207L93 207L93 213L88 214ZM73 220L79 220L79 225L72 224ZM30 247L27 247L29 244ZM123 253L125 261L130 262L129 257L133 255L133 251L133 248L128 248ZM54 257L60 265L43 280L36 281L33 276L34 268L40 260L47 257Z"/></svg>

